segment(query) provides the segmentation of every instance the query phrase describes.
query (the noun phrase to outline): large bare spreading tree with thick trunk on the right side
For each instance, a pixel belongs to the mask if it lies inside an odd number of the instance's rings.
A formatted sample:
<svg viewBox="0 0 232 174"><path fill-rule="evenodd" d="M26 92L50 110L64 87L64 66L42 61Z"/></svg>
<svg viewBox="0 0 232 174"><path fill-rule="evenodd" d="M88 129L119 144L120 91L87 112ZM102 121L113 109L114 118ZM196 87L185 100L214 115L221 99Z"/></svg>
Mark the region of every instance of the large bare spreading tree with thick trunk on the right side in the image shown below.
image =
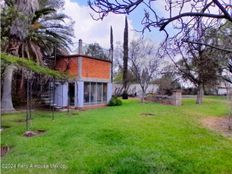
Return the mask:
<svg viewBox="0 0 232 174"><path fill-rule="evenodd" d="M159 49L159 53L162 56L168 55L182 77L196 86L196 103L201 104L204 88L218 82L222 66L228 61L230 52L225 50L232 48L222 39L228 37L228 34L217 34L218 30L222 29L222 24L215 27L200 17L194 19L193 24L192 28L185 28L178 37L168 39ZM200 42L205 44L199 44ZM221 46L221 50L216 48L218 45ZM179 62L174 59L179 59Z"/></svg>

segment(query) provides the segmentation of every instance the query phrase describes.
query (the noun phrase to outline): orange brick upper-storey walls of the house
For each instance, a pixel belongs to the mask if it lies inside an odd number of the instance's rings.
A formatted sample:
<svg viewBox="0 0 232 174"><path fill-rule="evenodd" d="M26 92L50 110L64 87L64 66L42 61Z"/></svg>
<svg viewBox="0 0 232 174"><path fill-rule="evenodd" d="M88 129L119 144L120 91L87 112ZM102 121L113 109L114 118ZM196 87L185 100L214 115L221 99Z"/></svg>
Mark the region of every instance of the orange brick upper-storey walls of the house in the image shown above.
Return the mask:
<svg viewBox="0 0 232 174"><path fill-rule="evenodd" d="M56 62L56 70L68 72L71 77L78 75L78 57L60 57ZM91 57L82 57L82 78L110 80L111 62Z"/></svg>

